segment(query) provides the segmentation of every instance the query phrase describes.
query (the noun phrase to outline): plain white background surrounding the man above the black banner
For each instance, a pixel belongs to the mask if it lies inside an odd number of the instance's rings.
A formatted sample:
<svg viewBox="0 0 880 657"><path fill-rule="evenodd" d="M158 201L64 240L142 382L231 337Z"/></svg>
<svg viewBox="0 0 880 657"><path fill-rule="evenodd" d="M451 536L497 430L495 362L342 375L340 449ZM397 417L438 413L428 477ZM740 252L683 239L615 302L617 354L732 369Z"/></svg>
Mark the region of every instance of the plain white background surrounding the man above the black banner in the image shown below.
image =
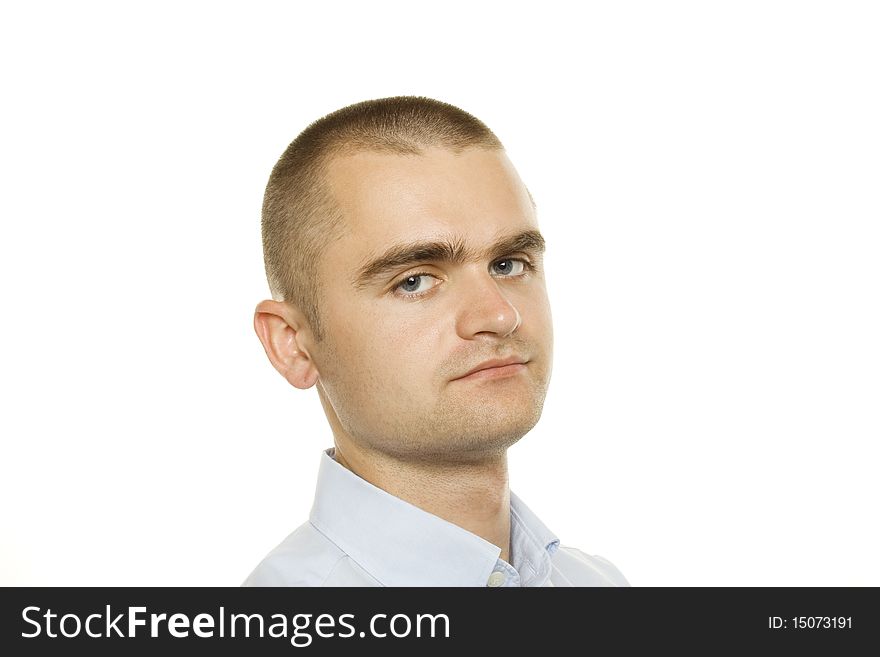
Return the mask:
<svg viewBox="0 0 880 657"><path fill-rule="evenodd" d="M0 583L237 585L305 521L332 437L253 331L263 188L417 94L548 240L511 488L635 586L880 585L875 3L10 5Z"/></svg>

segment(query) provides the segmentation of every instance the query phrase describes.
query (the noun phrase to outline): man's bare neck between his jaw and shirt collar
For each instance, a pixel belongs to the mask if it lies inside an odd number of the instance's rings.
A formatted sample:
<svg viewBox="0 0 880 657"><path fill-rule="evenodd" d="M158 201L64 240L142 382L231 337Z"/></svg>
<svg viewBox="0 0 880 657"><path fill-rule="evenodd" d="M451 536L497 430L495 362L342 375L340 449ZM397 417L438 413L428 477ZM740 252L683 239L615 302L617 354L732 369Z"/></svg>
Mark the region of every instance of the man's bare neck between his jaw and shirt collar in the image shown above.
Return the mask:
<svg viewBox="0 0 880 657"><path fill-rule="evenodd" d="M507 452L455 464L403 461L336 441L336 461L374 486L501 548L510 561Z"/></svg>

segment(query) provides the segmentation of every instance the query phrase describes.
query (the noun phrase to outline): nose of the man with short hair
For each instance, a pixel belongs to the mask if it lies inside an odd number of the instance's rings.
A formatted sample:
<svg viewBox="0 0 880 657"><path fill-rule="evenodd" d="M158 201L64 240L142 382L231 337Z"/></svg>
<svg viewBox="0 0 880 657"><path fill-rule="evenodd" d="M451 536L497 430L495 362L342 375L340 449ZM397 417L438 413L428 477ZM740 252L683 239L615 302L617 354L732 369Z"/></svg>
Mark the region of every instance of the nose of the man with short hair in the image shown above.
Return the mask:
<svg viewBox="0 0 880 657"><path fill-rule="evenodd" d="M506 338L522 324L519 310L487 272L468 277L463 285L467 289L460 297L459 337L469 340L479 333L494 333Z"/></svg>

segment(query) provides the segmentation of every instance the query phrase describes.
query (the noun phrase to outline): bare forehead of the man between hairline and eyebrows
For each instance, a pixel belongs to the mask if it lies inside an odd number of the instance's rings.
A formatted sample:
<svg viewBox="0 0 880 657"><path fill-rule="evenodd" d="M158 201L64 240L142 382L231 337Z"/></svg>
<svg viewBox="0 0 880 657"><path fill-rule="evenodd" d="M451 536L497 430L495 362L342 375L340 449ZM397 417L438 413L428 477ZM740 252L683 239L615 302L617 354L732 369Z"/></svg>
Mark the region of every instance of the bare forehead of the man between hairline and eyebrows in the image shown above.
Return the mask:
<svg viewBox="0 0 880 657"><path fill-rule="evenodd" d="M332 160L327 184L345 215L340 246L357 252L440 234L479 246L537 227L528 192L503 150L362 151Z"/></svg>

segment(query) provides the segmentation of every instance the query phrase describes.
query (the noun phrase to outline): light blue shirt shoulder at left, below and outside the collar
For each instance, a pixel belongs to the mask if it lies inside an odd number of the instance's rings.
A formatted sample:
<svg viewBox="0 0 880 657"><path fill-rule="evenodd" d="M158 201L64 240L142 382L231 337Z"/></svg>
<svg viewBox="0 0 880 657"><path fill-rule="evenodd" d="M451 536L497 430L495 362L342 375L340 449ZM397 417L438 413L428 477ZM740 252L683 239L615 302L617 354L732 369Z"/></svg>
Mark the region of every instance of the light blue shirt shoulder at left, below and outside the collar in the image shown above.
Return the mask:
<svg viewBox="0 0 880 657"><path fill-rule="evenodd" d="M324 586L343 561L345 553L306 522L269 552L242 586Z"/></svg>

